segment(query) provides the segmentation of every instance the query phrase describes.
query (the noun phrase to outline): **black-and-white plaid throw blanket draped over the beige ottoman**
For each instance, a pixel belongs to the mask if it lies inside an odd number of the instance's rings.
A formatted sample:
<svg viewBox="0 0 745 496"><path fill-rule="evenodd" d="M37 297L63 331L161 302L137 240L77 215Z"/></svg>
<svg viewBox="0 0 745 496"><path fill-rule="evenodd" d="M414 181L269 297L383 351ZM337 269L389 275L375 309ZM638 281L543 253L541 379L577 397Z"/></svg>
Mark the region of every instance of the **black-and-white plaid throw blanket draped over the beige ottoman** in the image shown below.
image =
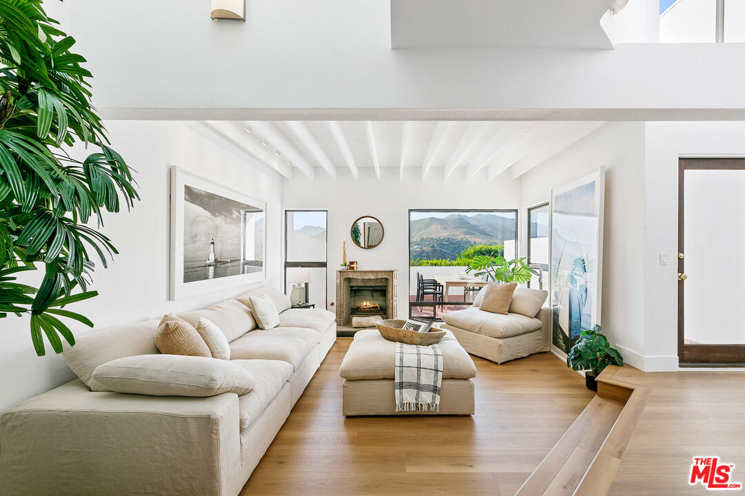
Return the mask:
<svg viewBox="0 0 745 496"><path fill-rule="evenodd" d="M428 347L396 343L396 411L440 410L443 353Z"/></svg>

